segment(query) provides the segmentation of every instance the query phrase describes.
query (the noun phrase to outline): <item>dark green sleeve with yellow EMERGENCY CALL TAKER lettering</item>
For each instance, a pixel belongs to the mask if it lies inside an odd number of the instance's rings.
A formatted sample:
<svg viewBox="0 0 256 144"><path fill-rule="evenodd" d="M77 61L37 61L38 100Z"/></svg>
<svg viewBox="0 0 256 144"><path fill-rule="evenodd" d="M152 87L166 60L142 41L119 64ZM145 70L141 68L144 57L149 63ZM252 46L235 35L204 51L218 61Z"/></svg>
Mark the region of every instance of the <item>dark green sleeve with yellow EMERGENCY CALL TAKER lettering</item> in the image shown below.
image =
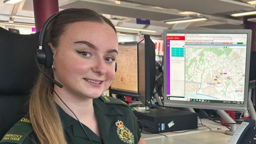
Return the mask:
<svg viewBox="0 0 256 144"><path fill-rule="evenodd" d="M28 116L20 119L2 138L1 142L11 142L21 144L33 131L31 121Z"/></svg>

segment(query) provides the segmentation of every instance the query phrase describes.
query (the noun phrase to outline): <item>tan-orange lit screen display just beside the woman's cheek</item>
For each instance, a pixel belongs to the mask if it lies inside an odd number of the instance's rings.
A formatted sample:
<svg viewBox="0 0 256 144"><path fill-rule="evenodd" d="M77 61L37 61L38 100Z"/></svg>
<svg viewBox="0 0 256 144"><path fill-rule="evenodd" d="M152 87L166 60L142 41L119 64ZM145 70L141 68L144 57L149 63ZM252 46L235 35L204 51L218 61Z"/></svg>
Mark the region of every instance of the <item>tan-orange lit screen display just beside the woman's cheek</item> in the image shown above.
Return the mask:
<svg viewBox="0 0 256 144"><path fill-rule="evenodd" d="M111 89L138 93L137 44L119 45L116 62Z"/></svg>

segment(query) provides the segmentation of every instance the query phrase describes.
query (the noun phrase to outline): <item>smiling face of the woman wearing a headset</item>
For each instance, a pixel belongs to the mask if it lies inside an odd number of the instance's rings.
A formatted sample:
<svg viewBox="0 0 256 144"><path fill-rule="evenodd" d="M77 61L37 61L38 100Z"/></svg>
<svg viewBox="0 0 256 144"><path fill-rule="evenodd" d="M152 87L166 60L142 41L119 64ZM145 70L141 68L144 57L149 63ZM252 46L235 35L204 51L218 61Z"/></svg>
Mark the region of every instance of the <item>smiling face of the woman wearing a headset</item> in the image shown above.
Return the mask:
<svg viewBox="0 0 256 144"><path fill-rule="evenodd" d="M107 23L75 22L66 27L59 46L52 48L54 78L66 94L97 98L115 75L118 43Z"/></svg>

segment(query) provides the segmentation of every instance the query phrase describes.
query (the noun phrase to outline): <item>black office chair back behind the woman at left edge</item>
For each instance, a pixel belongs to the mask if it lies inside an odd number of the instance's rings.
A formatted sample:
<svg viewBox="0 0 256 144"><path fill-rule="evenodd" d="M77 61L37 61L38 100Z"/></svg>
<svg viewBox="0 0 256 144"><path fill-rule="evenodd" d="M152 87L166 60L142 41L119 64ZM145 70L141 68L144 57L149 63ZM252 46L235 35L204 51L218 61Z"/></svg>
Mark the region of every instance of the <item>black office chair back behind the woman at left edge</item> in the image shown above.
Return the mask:
<svg viewBox="0 0 256 144"><path fill-rule="evenodd" d="M20 35L0 27L0 139L26 114L25 106L38 69L39 34Z"/></svg>

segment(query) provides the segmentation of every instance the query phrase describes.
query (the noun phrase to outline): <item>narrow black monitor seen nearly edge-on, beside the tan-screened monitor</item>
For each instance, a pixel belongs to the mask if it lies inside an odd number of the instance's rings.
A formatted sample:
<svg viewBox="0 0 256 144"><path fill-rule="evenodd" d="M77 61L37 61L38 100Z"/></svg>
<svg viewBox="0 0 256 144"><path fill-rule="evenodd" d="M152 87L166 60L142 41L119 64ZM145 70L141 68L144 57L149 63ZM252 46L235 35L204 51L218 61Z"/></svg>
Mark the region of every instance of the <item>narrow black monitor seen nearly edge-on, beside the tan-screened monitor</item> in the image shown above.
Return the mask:
<svg viewBox="0 0 256 144"><path fill-rule="evenodd" d="M145 106L150 106L156 84L155 44L150 36L145 35L138 43L138 79L139 100Z"/></svg>

